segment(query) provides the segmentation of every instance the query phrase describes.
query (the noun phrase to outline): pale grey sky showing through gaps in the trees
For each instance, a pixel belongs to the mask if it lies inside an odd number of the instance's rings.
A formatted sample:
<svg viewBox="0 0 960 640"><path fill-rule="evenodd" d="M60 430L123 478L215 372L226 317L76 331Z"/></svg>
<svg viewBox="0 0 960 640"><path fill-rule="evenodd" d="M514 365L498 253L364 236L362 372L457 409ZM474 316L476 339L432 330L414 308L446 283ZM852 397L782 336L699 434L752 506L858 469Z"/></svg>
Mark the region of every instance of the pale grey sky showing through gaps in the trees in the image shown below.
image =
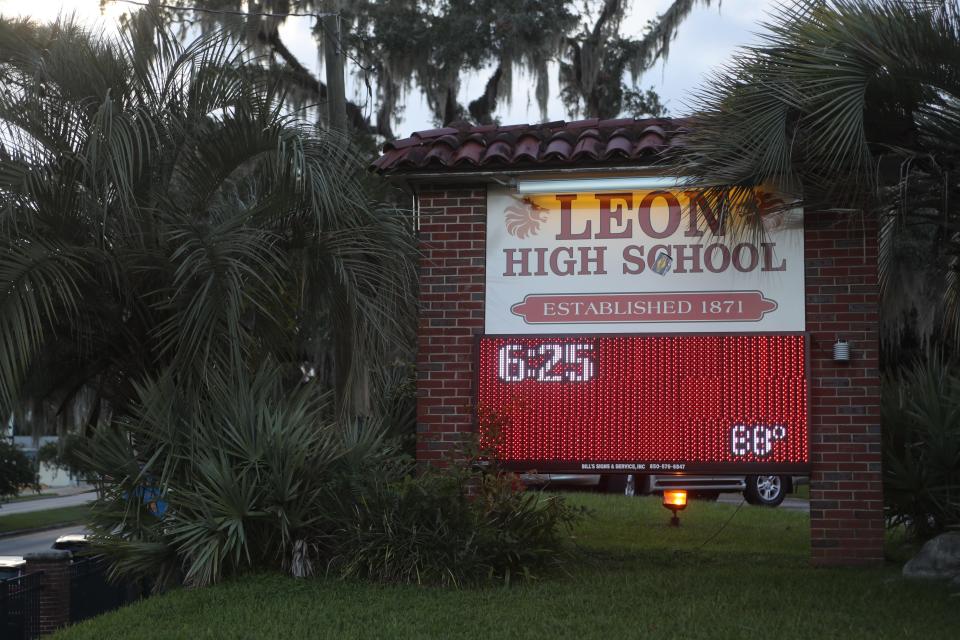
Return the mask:
<svg viewBox="0 0 960 640"><path fill-rule="evenodd" d="M639 34L647 20L668 7L671 0L633 0L630 15L623 24L624 33ZM754 42L755 33L777 0L723 0L718 8L698 7L680 26L680 32L670 49L666 63L659 63L640 79L640 86L653 86L666 103L671 115L682 115L690 92L716 67L721 66L733 54L736 47ZM107 4L106 15L100 13L100 0L0 0L0 13L29 15L38 21L49 21L61 12L76 14L91 24L108 28L117 15L133 8L120 2ZM290 18L282 27L282 36L295 55L316 73L322 73L318 62L317 44L310 33L311 18ZM483 89L489 74L476 74L463 83L461 103L466 104ZM322 75L320 76L322 78ZM499 105L495 115L503 124L537 122L540 111L533 99L532 81L517 73L514 77L513 100ZM551 95L558 94L556 73L551 73ZM348 92L358 104L367 102L366 89L362 83L348 79ZM548 119L565 120L560 99L551 99ZM433 128L430 111L421 95L414 91L406 101L406 111L401 122L394 127L399 136L414 131Z"/></svg>

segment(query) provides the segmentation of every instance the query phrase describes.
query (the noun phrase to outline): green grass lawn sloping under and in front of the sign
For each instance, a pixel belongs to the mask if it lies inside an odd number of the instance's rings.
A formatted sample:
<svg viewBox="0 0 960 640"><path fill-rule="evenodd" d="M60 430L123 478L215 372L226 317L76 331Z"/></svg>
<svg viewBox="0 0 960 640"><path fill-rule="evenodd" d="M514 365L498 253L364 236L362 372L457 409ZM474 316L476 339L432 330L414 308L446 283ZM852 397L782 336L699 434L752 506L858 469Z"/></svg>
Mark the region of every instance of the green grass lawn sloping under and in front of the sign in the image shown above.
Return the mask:
<svg viewBox="0 0 960 640"><path fill-rule="evenodd" d="M670 528L655 498L570 499L594 516L567 575L463 591L256 575L55 638L960 637L960 601L943 585L906 582L894 565L812 568L804 513L744 506L730 520L736 507L698 501Z"/></svg>

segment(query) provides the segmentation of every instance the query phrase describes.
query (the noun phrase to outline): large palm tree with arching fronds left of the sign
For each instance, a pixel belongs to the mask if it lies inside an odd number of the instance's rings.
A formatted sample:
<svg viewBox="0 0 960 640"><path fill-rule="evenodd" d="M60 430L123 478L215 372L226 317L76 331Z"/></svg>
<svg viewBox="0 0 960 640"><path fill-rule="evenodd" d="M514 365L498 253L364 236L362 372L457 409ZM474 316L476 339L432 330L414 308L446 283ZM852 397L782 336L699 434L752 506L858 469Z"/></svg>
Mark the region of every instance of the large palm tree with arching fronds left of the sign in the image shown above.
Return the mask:
<svg viewBox="0 0 960 640"><path fill-rule="evenodd" d="M0 19L0 415L266 359L349 409L409 339L410 227L258 59L157 24Z"/></svg>

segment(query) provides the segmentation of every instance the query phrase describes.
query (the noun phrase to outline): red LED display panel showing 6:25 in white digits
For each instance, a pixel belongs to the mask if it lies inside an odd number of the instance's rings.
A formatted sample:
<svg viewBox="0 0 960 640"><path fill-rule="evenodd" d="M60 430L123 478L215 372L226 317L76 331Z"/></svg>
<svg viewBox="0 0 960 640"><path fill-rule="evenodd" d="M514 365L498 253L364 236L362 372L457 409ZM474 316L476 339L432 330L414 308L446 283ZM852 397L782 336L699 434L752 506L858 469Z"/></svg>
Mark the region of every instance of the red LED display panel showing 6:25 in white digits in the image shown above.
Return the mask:
<svg viewBox="0 0 960 640"><path fill-rule="evenodd" d="M483 337L481 433L516 470L806 471L805 341Z"/></svg>

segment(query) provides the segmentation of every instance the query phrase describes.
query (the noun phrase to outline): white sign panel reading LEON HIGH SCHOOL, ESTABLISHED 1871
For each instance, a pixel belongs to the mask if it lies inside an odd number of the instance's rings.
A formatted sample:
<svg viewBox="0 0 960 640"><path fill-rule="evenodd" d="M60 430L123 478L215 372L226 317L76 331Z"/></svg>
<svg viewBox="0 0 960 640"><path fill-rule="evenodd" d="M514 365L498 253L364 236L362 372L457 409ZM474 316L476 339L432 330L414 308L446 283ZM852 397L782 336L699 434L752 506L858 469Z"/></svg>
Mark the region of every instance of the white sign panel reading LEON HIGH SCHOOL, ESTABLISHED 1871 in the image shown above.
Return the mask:
<svg viewBox="0 0 960 640"><path fill-rule="evenodd" d="M488 334L804 330L800 210L731 239L693 191L487 198Z"/></svg>

